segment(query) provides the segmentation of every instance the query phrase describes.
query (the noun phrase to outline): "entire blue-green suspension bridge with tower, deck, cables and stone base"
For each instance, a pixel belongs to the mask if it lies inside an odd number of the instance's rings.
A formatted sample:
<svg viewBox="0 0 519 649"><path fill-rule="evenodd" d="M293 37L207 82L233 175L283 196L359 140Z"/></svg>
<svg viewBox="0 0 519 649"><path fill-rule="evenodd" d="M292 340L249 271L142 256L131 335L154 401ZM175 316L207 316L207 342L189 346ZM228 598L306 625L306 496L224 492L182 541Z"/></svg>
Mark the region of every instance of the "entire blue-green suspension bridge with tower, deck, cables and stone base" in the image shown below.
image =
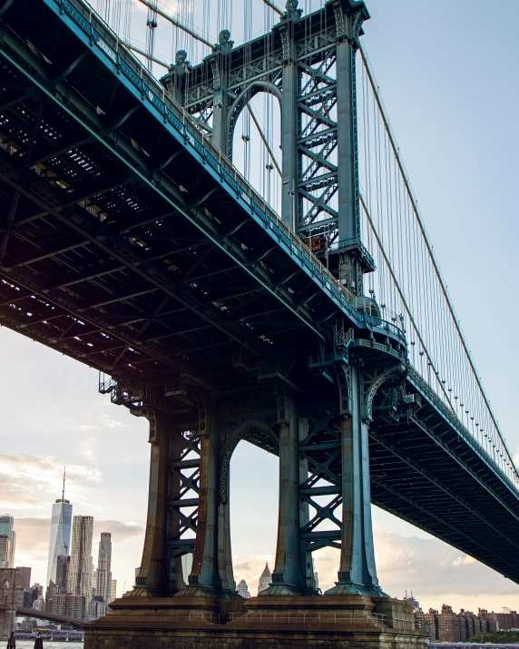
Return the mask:
<svg viewBox="0 0 519 649"><path fill-rule="evenodd" d="M86 646L139 628L154 647L157 624L256 646L277 606L325 635L346 606L377 637L423 643L378 584L371 503L519 583L519 477L362 43L367 7L265 2L256 37L247 2L235 44L229 3L213 23L207 2L200 31L142 4L142 46L109 11L132 3L0 6L0 323L99 369L100 391L150 422L141 572ZM156 54L159 19L198 63ZM272 585L245 616L229 516L242 439L279 456ZM338 582L319 597L326 546Z"/></svg>

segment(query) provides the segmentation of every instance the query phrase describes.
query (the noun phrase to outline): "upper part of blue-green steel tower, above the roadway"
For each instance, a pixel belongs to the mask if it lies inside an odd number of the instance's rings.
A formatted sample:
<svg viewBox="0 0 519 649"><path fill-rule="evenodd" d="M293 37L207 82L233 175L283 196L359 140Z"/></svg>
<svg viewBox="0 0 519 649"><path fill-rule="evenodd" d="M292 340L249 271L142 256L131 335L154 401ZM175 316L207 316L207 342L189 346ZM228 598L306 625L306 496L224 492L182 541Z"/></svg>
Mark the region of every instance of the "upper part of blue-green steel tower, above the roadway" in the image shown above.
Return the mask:
<svg viewBox="0 0 519 649"><path fill-rule="evenodd" d="M257 93L279 100L282 218L328 263L329 254L338 251L361 262L355 278L344 270L354 292L362 272L375 268L360 241L355 189L355 53L366 18L364 5L349 0L328 0L303 17L293 9L270 34L240 47L222 32L202 64L191 67L184 53L177 54L171 73L162 78L230 159L238 117L250 100Z"/></svg>

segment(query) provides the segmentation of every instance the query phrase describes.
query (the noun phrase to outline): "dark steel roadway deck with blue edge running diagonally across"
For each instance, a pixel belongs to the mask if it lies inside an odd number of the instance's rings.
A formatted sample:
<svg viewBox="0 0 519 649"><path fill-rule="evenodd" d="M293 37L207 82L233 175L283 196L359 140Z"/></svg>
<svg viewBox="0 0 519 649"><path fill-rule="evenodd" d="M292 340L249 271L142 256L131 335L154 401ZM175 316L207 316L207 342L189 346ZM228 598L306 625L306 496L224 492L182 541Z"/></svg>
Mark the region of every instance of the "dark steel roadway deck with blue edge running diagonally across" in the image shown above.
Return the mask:
<svg viewBox="0 0 519 649"><path fill-rule="evenodd" d="M372 502L519 583L519 494L407 367L402 331L342 290L84 5L23 5L0 7L0 323L106 372L119 402L181 383L253 394L273 375L310 401L331 387L308 359L340 316L350 352L406 372L406 399L374 404ZM333 495L327 439L313 468ZM338 544L318 532L314 549L319 534Z"/></svg>

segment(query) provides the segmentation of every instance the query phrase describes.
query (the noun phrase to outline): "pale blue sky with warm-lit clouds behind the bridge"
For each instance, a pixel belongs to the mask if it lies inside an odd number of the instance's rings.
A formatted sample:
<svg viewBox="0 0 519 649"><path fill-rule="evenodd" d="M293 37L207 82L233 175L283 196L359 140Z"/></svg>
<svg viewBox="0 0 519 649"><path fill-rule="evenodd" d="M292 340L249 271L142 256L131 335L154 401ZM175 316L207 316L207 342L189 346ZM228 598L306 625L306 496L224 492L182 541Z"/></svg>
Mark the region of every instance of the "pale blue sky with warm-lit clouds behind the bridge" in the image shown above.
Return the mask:
<svg viewBox="0 0 519 649"><path fill-rule="evenodd" d="M494 0L492 11L483 0L367 6L365 44L400 152L469 348L517 453L519 3ZM133 12L133 29L140 16ZM199 10L194 21L203 23ZM177 42L161 25L157 48L168 53ZM150 451L146 421L99 395L97 380L93 369L0 329L0 513L15 516L16 565L31 565L33 582L43 583L51 507L66 465L73 514L94 516L94 561L100 533L113 533L122 595L141 559ZM275 553L278 462L243 442L230 471L235 578L255 594ZM379 581L389 595L412 590L425 609L519 608L519 586L472 557L376 507L374 526ZM336 553L317 553L323 590L337 564Z"/></svg>

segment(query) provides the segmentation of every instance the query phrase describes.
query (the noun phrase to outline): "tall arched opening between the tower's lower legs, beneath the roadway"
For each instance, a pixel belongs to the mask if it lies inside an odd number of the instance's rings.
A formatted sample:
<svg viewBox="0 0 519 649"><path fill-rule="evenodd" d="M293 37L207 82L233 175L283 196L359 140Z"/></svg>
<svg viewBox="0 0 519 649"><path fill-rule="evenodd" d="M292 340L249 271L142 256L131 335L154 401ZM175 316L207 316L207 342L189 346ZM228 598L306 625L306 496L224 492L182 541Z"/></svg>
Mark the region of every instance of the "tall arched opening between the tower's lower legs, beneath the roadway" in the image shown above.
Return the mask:
<svg viewBox="0 0 519 649"><path fill-rule="evenodd" d="M278 534L279 457L242 440L230 459L230 542L236 585L258 595L265 565L274 569Z"/></svg>

